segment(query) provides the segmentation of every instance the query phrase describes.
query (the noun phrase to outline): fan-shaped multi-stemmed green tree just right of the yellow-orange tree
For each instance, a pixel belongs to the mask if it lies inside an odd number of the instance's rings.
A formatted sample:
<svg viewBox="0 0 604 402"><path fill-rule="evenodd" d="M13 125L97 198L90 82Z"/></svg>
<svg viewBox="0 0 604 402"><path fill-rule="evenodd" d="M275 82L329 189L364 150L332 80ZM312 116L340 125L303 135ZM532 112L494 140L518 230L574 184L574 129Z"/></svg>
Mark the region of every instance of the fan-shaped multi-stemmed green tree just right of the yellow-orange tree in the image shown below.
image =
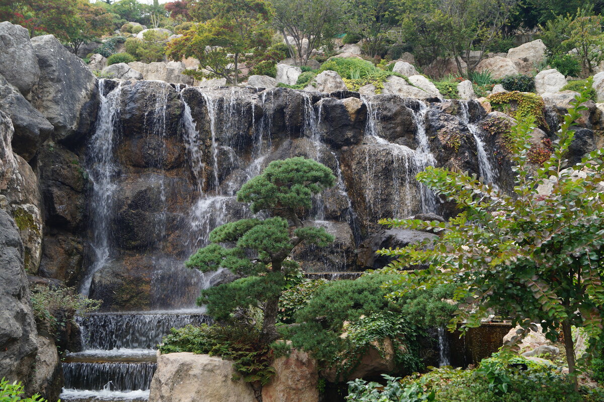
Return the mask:
<svg viewBox="0 0 604 402"><path fill-rule="evenodd" d="M312 49L327 45L346 30L350 4L341 0L274 0L274 26L288 46L296 49L298 65L306 65ZM294 39L289 43L288 36Z"/></svg>

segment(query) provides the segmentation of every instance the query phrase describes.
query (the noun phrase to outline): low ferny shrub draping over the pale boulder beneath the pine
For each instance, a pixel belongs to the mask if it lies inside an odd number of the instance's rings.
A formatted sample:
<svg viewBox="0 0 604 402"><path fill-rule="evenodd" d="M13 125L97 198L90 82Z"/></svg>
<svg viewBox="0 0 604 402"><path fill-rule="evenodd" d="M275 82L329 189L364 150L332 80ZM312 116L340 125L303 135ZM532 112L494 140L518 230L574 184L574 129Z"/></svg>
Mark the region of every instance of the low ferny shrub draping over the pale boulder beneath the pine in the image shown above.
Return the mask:
<svg viewBox="0 0 604 402"><path fill-rule="evenodd" d="M236 374L233 379L259 381L266 385L275 369L271 367L269 350L259 342L260 333L249 327L230 327L202 324L187 325L170 330L159 345L161 353L190 352L220 356L233 360Z"/></svg>

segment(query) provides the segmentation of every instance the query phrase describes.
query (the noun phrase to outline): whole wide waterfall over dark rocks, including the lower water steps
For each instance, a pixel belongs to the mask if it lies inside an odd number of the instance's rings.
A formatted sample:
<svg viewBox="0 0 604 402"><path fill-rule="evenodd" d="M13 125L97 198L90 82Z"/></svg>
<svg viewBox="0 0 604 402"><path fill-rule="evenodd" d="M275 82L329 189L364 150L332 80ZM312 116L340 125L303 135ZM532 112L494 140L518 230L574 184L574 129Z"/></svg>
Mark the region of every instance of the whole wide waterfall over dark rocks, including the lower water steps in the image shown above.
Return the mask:
<svg viewBox="0 0 604 402"><path fill-rule="evenodd" d="M306 156L337 178L306 221L326 228L335 243L295 250L308 278L358 277L364 268L356 250L379 230L379 219L446 213L415 179L451 158L437 142L444 101L106 79L98 92L86 152L92 188L80 290L103 305L77 317L81 349L62 363L62 400L149 397L162 337L170 328L211 322L195 300L201 289L229 279L228 272L188 270L184 261L208 244L212 229L252 216L236 191L271 161ZM460 113L447 118L475 147L463 162L496 183L476 108L455 102ZM444 345L441 329L439 339Z"/></svg>

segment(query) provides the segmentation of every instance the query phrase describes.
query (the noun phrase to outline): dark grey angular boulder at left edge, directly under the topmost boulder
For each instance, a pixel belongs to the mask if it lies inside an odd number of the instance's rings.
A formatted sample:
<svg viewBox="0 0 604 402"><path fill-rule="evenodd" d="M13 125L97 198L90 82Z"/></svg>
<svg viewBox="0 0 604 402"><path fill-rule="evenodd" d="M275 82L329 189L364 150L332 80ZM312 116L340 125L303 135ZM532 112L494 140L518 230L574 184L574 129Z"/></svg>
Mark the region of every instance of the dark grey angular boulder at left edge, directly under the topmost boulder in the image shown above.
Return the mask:
<svg viewBox="0 0 604 402"><path fill-rule="evenodd" d="M53 133L53 125L2 75L0 75L0 107L8 113L13 122L13 151L30 161L36 155L39 145Z"/></svg>

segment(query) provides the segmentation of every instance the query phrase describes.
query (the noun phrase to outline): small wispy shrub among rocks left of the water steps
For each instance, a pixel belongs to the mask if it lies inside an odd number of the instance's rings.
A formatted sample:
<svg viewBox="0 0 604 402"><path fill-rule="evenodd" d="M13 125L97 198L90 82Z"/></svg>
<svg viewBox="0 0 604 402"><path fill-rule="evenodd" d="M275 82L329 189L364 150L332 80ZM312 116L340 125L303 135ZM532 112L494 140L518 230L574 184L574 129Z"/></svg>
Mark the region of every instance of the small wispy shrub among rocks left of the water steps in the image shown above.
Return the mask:
<svg viewBox="0 0 604 402"><path fill-rule="evenodd" d="M31 290L31 306L38 324L48 324L51 331L65 327L76 315L98 310L100 300L89 299L74 289L37 286Z"/></svg>

